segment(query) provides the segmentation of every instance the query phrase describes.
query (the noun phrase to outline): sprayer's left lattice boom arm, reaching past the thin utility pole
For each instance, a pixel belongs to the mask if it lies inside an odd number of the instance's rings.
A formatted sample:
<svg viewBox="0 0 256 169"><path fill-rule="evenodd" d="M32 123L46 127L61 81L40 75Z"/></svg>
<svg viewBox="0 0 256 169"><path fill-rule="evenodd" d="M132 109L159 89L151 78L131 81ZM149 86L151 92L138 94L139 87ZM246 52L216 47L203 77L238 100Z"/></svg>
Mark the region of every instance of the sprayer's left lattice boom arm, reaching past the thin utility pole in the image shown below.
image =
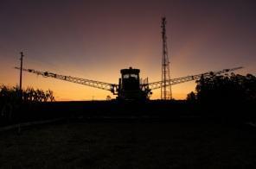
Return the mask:
<svg viewBox="0 0 256 169"><path fill-rule="evenodd" d="M20 69L20 67L15 67L16 69ZM22 71L25 72L32 72L35 73L37 75L41 75L44 78L58 78L61 80L65 80L68 82L73 82L76 84L84 84L84 85L88 85L94 88L98 88L98 89L102 89L102 90L106 90L106 91L111 91L113 94L117 94L118 91L118 84L109 84L109 83L105 83L105 82L99 82L99 81L95 81L95 80L89 80L86 78L74 78L72 76L65 76L65 75L61 75L61 74L56 74L53 72L41 72L41 71L35 71L34 69L22 69Z"/></svg>

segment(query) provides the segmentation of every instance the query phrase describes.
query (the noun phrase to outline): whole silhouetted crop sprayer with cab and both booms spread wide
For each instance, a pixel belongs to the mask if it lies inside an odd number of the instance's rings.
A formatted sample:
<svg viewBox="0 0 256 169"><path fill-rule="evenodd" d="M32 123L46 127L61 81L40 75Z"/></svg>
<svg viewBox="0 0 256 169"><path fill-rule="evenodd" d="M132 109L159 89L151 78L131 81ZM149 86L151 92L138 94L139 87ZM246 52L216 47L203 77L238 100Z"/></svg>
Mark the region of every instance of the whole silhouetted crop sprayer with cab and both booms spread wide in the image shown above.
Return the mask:
<svg viewBox="0 0 256 169"><path fill-rule="evenodd" d="M208 78L213 75L220 75L223 73L236 71L241 68L242 67L234 67L231 69L223 69L216 72L204 72L182 78L172 78L165 82L157 81L149 83L148 78L142 80L139 77L139 69L133 69L132 67L130 67L129 69L122 69L120 71L121 78L119 78L118 84L110 84L86 78L75 78L72 76L56 74L54 72L41 72L34 69L22 68L22 71L35 73L45 78L58 78L76 84L83 84L101 90L111 91L113 95L118 95L117 99L119 100L147 100L150 98L152 90L160 89L161 86L163 86L163 83L167 85L182 84L184 82L198 80L201 77ZM16 69L20 69L20 67L16 67Z"/></svg>

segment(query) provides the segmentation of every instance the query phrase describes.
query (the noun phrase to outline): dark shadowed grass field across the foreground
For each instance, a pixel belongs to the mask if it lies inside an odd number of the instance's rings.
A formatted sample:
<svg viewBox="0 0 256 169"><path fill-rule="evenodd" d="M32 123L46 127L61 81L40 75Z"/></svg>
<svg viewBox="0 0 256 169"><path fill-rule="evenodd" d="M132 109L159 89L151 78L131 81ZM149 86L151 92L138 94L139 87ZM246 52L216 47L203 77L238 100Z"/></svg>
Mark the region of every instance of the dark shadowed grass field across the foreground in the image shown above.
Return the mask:
<svg viewBox="0 0 256 169"><path fill-rule="evenodd" d="M214 122L59 122L0 133L0 167L256 168L255 134Z"/></svg>

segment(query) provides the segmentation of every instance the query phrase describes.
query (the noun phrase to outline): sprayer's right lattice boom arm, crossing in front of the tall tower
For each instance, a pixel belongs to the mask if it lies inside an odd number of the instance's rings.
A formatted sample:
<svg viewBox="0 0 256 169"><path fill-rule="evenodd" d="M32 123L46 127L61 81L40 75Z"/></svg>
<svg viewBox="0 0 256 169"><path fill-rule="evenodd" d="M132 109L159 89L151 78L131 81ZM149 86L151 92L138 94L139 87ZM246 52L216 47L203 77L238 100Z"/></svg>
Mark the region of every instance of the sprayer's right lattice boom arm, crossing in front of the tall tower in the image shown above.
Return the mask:
<svg viewBox="0 0 256 169"><path fill-rule="evenodd" d="M218 74L222 74L222 73L225 73L225 72L232 72L232 71L236 71L236 70L241 69L241 68L243 68L243 67L234 67L234 68L231 68L231 69L223 69L221 71L216 71L216 72L204 72L204 73L201 73L201 74L196 74L196 75L187 76L187 77L183 77L183 78L172 78L172 79L170 79L166 82L166 85L181 84L181 83L189 82L189 81L192 81L192 80L198 80L202 76L205 77L205 78L208 78L212 75L218 75ZM163 81L149 83L150 90L159 89L159 88L161 88L161 85L163 85Z"/></svg>

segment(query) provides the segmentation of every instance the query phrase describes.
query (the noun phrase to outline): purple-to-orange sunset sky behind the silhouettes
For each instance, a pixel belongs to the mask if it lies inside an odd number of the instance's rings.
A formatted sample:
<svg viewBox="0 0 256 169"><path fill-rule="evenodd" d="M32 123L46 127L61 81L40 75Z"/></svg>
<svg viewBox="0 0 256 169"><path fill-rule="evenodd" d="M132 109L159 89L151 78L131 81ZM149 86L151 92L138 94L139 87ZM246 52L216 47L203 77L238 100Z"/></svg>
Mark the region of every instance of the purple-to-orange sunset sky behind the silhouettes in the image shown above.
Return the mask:
<svg viewBox="0 0 256 169"><path fill-rule="evenodd" d="M26 68L118 84L132 66L161 80L161 17L167 18L170 76L245 66L256 72L254 0L1 0L0 84L19 82ZM109 91L23 73L23 87L51 89L57 100L106 99ZM195 82L172 87L176 99ZM160 90L153 91L153 99Z"/></svg>

